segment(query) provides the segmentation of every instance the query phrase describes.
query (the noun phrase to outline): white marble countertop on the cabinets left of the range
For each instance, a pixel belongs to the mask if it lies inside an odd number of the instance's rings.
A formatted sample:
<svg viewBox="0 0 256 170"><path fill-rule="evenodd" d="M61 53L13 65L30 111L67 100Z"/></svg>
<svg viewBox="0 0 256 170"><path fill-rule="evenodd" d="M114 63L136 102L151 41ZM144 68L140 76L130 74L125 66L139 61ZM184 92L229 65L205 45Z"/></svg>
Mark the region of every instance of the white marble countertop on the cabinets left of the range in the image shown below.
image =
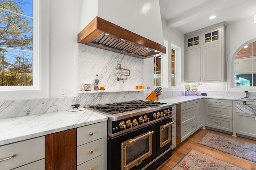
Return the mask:
<svg viewBox="0 0 256 170"><path fill-rule="evenodd" d="M107 121L108 117L90 110L57 111L0 119L0 145L6 145L76 127Z"/></svg>

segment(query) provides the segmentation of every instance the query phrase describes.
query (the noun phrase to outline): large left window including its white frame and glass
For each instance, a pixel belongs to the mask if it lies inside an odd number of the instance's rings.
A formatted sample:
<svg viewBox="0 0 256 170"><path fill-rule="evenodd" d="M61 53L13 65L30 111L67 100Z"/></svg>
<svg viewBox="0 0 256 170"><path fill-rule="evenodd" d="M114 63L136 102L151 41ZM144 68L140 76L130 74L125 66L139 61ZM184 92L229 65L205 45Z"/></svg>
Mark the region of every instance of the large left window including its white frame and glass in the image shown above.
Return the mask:
<svg viewBox="0 0 256 170"><path fill-rule="evenodd" d="M0 1L0 100L48 98L48 15L48 0Z"/></svg>

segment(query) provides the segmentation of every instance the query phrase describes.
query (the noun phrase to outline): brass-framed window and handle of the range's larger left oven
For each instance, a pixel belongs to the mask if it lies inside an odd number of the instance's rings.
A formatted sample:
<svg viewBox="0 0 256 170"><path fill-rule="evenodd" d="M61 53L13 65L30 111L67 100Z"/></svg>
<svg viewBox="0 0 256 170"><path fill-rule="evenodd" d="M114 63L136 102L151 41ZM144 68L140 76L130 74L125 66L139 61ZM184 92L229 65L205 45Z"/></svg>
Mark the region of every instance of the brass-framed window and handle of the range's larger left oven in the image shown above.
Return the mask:
<svg viewBox="0 0 256 170"><path fill-rule="evenodd" d="M152 154L152 134L148 131L122 143L122 170L128 170Z"/></svg>

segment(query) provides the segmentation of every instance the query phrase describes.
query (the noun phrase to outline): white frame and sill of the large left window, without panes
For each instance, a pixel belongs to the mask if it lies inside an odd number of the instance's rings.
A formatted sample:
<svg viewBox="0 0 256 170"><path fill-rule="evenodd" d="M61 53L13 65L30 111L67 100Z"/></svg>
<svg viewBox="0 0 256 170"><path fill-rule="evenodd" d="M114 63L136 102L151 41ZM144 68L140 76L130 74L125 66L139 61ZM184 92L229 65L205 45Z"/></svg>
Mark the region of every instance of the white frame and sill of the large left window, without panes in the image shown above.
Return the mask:
<svg viewBox="0 0 256 170"><path fill-rule="evenodd" d="M37 98L49 98L49 0L33 0L33 86L0 86L1 101Z"/></svg>

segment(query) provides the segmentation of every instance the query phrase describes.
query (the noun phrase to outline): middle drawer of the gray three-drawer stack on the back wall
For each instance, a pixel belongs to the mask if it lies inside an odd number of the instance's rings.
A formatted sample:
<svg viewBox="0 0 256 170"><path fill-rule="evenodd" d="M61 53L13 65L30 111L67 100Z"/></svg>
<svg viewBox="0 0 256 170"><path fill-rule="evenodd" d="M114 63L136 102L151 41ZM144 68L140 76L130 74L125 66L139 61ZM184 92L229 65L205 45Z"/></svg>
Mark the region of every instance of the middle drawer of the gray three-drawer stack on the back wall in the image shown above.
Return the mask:
<svg viewBox="0 0 256 170"><path fill-rule="evenodd" d="M205 115L232 119L233 118L233 107L206 104L205 105Z"/></svg>

